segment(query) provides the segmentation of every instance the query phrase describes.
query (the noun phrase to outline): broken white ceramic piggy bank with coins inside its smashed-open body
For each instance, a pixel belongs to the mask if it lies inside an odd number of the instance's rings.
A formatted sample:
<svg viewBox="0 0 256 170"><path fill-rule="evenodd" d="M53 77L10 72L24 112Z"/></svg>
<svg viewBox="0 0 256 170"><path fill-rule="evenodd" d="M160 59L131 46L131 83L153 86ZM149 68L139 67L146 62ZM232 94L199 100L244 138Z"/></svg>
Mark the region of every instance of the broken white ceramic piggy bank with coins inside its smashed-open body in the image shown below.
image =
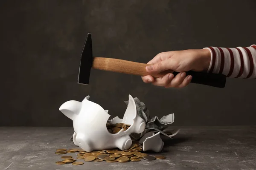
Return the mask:
<svg viewBox="0 0 256 170"><path fill-rule="evenodd" d="M144 120L137 115L133 97L129 95L129 104L123 119L116 117L116 120L119 120L120 123L131 126L127 130L120 130L116 134L109 133L106 127L110 115L100 105L89 101L89 97L85 97L82 102L67 101L59 108L64 115L73 120L74 144L87 152L116 147L120 150L129 149L132 144L129 135L131 133L142 133L145 129ZM115 123L117 122L115 121Z"/></svg>

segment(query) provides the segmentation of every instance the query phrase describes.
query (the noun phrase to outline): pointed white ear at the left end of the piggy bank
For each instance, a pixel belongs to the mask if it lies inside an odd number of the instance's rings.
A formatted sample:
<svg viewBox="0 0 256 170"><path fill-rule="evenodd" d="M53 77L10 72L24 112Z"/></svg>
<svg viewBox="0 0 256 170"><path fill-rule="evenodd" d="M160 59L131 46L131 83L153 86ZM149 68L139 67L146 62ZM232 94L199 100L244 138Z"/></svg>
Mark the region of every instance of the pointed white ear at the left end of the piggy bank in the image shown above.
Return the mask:
<svg viewBox="0 0 256 170"><path fill-rule="evenodd" d="M59 110L71 120L79 114L81 109L81 102L70 100L61 105Z"/></svg>

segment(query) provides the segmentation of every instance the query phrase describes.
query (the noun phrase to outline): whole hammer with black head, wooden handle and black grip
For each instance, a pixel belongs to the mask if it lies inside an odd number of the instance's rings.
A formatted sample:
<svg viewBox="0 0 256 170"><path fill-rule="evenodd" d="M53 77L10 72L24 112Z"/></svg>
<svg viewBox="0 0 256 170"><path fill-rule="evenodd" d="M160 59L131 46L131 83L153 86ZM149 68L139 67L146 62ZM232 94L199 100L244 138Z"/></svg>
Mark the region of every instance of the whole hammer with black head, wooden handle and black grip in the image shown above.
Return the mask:
<svg viewBox="0 0 256 170"><path fill-rule="evenodd" d="M146 75L150 75L145 69L146 66L148 65L149 64L126 61L122 59L93 57L92 37L91 37L91 34L88 33L86 41L84 43L83 51L81 53L77 83L84 84L84 85L89 84L91 68L103 70L103 71L132 74L137 76L146 76ZM167 70L151 76L153 76L154 78L158 78L158 77L163 77L167 73L172 73L175 76L178 74L178 72ZM224 88L226 84L226 76L223 74L186 71L186 75L192 76L192 81L191 81L192 83L209 85L209 86L218 87L218 88Z"/></svg>

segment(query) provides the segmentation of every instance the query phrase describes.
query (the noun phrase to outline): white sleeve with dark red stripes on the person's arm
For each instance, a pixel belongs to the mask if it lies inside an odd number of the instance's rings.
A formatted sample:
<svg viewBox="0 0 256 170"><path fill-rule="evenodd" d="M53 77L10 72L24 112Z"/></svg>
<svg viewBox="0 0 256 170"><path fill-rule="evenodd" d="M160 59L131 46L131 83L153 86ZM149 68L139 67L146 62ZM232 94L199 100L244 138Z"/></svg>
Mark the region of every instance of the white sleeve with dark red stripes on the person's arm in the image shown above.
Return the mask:
<svg viewBox="0 0 256 170"><path fill-rule="evenodd" d="M256 78L256 45L250 47L207 47L211 52L209 73L233 78Z"/></svg>

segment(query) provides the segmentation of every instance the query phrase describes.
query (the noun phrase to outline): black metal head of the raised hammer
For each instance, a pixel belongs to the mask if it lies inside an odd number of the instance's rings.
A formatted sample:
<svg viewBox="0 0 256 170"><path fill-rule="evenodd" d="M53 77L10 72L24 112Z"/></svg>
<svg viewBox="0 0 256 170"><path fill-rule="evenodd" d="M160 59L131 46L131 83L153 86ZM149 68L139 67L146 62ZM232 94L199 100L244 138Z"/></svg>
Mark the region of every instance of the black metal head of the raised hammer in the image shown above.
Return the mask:
<svg viewBox="0 0 256 170"><path fill-rule="evenodd" d="M79 73L78 73L78 84L88 85L90 79L90 69L93 64L93 47L92 47L92 36L90 33L87 34L84 48L81 54Z"/></svg>

